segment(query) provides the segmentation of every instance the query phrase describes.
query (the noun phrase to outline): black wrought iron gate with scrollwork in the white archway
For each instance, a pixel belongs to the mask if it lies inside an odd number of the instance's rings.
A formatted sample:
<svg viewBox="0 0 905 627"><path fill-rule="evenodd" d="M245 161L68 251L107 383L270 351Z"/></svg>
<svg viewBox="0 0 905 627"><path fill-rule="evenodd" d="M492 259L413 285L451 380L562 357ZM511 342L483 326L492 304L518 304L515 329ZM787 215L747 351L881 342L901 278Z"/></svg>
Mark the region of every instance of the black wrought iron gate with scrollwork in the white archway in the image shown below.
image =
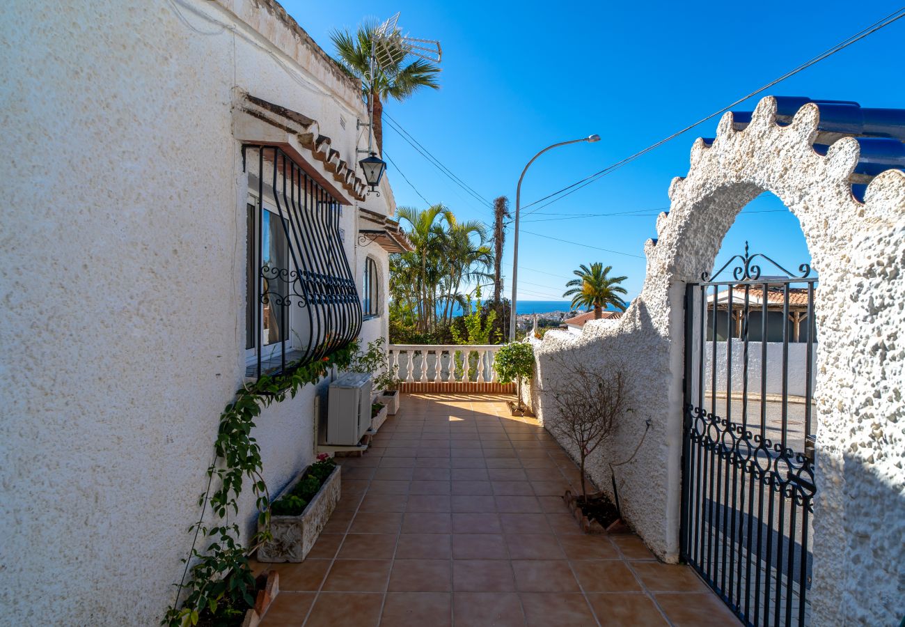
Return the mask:
<svg viewBox="0 0 905 627"><path fill-rule="evenodd" d="M686 292L681 556L749 625L809 621L816 281L746 243Z"/></svg>

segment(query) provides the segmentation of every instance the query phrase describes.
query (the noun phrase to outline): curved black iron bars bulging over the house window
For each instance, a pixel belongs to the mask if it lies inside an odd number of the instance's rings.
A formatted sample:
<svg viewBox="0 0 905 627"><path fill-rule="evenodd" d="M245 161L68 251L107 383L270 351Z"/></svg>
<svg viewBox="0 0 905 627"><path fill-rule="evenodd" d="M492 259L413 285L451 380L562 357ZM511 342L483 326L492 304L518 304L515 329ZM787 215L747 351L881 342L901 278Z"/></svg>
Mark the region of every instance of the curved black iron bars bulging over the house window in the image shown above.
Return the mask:
<svg viewBox="0 0 905 627"><path fill-rule="evenodd" d="M256 341L246 345L257 348L246 375L260 377L317 361L353 342L362 308L339 236L338 200L277 147L246 144L243 163L249 193L256 197L248 246L248 324ZM272 255L275 245L285 253ZM273 329L280 330L280 342L271 342Z"/></svg>

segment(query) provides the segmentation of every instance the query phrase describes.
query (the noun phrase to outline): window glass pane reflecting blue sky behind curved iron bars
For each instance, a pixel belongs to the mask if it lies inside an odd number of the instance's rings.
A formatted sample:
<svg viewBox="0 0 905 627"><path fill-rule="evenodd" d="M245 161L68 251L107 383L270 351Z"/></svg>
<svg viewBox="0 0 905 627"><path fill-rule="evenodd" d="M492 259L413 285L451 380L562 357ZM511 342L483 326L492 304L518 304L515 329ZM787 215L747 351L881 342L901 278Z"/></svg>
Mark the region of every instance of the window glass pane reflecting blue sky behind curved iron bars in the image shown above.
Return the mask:
<svg viewBox="0 0 905 627"><path fill-rule="evenodd" d="M289 254L282 220L264 211L261 230L262 260L262 335L263 345L283 342L289 338L289 311L281 306L288 294L286 278L289 273Z"/></svg>

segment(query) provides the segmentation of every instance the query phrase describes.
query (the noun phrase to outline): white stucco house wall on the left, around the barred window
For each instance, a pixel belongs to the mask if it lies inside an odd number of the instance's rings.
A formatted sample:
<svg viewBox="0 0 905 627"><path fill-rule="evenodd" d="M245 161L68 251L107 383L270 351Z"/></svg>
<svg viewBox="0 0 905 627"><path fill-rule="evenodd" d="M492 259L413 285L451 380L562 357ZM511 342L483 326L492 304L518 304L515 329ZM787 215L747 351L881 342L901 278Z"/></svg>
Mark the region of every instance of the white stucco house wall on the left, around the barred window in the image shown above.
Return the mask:
<svg viewBox="0 0 905 627"><path fill-rule="evenodd" d="M234 99L316 119L350 160L364 111L266 1L14 0L0 56L0 606L14 624L156 624L244 375ZM312 458L312 395L257 421L271 489Z"/></svg>

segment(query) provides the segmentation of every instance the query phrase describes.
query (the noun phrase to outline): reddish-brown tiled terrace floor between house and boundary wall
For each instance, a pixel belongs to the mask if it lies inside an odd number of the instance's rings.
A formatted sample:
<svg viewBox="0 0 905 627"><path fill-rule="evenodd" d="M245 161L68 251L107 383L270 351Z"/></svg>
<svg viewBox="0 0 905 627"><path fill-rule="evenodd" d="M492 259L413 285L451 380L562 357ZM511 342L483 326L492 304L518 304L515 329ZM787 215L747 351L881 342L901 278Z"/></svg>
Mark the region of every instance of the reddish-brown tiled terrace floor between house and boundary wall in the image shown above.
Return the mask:
<svg viewBox="0 0 905 627"><path fill-rule="evenodd" d="M582 535L575 464L502 396L405 395L262 626L738 625L687 566ZM511 397L509 397L511 398ZM262 564L263 566L263 564Z"/></svg>

